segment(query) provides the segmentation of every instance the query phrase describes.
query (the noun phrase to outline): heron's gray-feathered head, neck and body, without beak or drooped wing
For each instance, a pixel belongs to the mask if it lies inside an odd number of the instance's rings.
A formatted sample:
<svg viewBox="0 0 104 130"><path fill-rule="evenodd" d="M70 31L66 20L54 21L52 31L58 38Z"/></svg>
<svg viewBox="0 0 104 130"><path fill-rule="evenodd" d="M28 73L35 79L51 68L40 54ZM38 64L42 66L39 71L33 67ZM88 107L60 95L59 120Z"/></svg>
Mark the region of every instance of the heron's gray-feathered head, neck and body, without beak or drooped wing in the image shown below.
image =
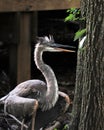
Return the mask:
<svg viewBox="0 0 104 130"><path fill-rule="evenodd" d="M33 98L39 102L39 107L45 111L51 109L58 100L58 83L55 74L50 66L46 65L42 60L44 51L48 51L49 45L54 40L50 37L40 37L34 50L34 61L37 68L45 77L46 83L41 80L27 80L17 85L9 96L19 96L25 98Z"/></svg>

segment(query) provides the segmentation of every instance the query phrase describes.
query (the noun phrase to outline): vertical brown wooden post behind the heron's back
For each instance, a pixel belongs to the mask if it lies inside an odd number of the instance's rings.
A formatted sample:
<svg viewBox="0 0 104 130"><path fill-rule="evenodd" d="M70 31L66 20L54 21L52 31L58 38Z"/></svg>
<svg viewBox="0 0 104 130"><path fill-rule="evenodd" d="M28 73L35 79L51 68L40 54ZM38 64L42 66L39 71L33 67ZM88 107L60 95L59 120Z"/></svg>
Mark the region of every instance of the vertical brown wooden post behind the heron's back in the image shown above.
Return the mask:
<svg viewBox="0 0 104 130"><path fill-rule="evenodd" d="M17 83L31 77L30 14L19 14L19 43L17 54Z"/></svg>

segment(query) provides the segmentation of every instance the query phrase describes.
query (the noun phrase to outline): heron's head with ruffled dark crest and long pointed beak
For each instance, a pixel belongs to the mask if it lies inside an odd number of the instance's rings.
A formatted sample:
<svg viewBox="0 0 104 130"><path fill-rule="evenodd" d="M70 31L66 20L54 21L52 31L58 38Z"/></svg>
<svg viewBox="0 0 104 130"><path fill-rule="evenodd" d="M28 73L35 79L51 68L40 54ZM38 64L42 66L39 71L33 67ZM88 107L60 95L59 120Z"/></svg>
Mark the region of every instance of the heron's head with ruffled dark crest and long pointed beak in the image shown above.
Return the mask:
<svg viewBox="0 0 104 130"><path fill-rule="evenodd" d="M38 37L36 48L49 52L75 52L75 47L55 43L53 36Z"/></svg>

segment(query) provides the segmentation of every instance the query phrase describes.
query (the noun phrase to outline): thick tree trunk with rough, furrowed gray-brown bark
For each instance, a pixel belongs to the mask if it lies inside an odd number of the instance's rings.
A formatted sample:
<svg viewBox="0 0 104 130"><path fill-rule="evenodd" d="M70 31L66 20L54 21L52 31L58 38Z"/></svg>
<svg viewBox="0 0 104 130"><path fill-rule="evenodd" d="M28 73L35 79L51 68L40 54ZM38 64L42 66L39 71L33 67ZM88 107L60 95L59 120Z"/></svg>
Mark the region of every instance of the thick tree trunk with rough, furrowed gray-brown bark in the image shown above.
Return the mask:
<svg viewBox="0 0 104 130"><path fill-rule="evenodd" d="M81 0L87 39L78 50L69 130L104 130L104 0Z"/></svg>

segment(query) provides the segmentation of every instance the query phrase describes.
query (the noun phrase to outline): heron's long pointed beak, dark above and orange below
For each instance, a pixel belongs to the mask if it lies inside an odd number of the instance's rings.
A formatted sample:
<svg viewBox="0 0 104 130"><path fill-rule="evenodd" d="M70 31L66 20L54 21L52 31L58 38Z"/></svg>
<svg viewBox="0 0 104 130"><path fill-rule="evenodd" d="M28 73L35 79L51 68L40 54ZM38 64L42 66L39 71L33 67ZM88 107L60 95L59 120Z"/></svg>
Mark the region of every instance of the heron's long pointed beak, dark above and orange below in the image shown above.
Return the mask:
<svg viewBox="0 0 104 130"><path fill-rule="evenodd" d="M54 49L56 51L60 51L60 52L62 52L62 51L63 52L75 52L75 50L72 50L72 49L75 49L75 47L73 47L73 46L54 43L54 44L52 44L52 47L54 47ZM69 49L66 49L66 48L69 48Z"/></svg>

